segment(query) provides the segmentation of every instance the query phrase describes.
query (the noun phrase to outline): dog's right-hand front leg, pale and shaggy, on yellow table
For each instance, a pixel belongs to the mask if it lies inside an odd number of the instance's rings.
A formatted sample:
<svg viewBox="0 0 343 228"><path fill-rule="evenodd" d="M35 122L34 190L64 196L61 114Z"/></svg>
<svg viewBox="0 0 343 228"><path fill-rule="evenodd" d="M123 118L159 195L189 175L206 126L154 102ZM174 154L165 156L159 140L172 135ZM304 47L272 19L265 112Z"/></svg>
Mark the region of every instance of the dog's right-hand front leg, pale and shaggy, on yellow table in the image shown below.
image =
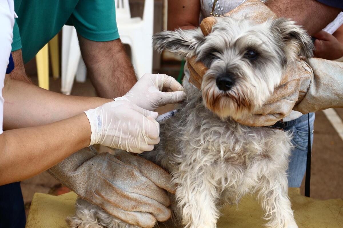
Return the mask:
<svg viewBox="0 0 343 228"><path fill-rule="evenodd" d="M298 228L291 202L288 198L288 182L286 169L288 165L288 151L285 147L274 148L276 153L255 164L254 170L260 173L256 187L258 198L269 219L269 228ZM274 150L275 151L275 150Z"/></svg>

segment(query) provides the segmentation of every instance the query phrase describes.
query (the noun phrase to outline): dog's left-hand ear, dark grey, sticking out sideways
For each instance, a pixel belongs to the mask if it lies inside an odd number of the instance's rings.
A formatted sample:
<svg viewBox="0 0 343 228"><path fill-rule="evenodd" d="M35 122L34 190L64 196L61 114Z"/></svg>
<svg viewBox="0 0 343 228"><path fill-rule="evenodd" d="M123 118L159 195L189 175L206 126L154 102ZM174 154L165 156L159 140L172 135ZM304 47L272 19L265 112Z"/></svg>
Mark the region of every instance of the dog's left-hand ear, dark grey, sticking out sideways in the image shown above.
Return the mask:
<svg viewBox="0 0 343 228"><path fill-rule="evenodd" d="M193 57L204 35L200 28L158 32L153 36L154 48L173 52L182 57Z"/></svg>

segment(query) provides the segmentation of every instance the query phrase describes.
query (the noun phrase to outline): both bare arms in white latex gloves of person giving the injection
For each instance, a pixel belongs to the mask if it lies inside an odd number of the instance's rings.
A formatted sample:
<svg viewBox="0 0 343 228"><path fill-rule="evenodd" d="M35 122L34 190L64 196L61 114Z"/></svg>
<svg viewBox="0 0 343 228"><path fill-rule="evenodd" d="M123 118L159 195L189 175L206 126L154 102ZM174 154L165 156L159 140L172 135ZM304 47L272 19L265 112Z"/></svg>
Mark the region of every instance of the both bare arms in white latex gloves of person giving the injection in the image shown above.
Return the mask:
<svg viewBox="0 0 343 228"><path fill-rule="evenodd" d="M163 89L170 92L162 92ZM0 135L0 185L31 177L88 145L102 144L136 153L152 150L153 145L159 142L159 125L154 120L157 113L141 107L145 105L146 108L153 110L158 105L180 102L185 98L182 90L182 86L170 76L146 74L121 100L92 100L87 97L61 97L60 94L7 76L2 90L3 97L5 100L16 102L11 104L12 109L6 110L7 106L4 106L4 126L13 128L11 124L16 124L15 121L25 125L21 119L30 121L26 117L28 114L31 118L40 119L40 123L34 121L41 126L7 130ZM17 94L22 96L17 99ZM25 94L29 98L25 98ZM34 95L31 97L29 94ZM147 98L135 99L138 95ZM44 104L39 103L41 97L46 99ZM25 105L31 99L31 103ZM61 104L63 100L69 103L64 108L78 106L79 111L85 107L105 104L85 111L86 115L77 113L78 115L69 119L51 123L56 117L49 116L49 112L41 113L40 110L44 111L44 108L40 106L44 107L56 100ZM91 104L87 104L87 101ZM158 105L155 106L156 104ZM20 109L20 113L13 111ZM63 112L61 107L56 107L56 110ZM71 112L68 115L72 115ZM63 115L60 114L57 118L61 116ZM42 122L49 124L43 125ZM32 122L26 125L30 124Z"/></svg>

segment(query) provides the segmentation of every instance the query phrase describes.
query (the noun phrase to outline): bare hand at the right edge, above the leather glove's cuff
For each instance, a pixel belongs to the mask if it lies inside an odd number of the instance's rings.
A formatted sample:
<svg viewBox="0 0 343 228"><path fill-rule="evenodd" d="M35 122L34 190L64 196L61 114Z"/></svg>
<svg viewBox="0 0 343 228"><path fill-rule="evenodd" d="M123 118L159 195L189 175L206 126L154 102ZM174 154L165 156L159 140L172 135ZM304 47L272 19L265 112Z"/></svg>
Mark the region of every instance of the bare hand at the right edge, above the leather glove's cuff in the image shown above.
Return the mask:
<svg viewBox="0 0 343 228"><path fill-rule="evenodd" d="M315 57L324 59L338 59L343 56L343 43L326 31L317 32L315 38Z"/></svg>

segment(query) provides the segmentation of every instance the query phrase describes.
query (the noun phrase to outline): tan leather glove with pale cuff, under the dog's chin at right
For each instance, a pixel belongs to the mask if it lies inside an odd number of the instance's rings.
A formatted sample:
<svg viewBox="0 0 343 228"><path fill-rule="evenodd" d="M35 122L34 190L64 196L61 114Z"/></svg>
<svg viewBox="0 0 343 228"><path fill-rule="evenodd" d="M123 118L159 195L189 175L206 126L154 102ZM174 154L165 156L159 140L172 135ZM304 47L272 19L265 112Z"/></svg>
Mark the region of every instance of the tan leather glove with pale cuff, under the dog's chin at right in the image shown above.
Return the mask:
<svg viewBox="0 0 343 228"><path fill-rule="evenodd" d="M272 125L293 110L303 114L343 107L343 63L310 58L287 69L280 86L262 109L236 120L250 126Z"/></svg>

